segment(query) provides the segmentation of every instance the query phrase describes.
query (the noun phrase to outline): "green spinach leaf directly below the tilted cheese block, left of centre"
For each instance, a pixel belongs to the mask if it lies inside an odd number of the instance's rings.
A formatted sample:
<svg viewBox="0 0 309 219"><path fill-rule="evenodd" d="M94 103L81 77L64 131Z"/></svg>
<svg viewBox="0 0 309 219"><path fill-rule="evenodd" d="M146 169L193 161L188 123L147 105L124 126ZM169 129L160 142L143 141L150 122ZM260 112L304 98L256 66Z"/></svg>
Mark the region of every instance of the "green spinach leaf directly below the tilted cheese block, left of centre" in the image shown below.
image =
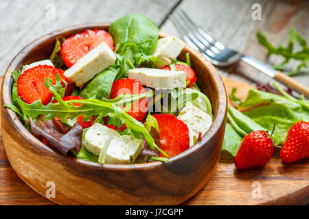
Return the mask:
<svg viewBox="0 0 309 219"><path fill-rule="evenodd" d="M95 97L95 99L102 100L109 99L111 87L117 71L115 68L107 68L96 75L87 85L80 91L79 96L83 99Z"/></svg>

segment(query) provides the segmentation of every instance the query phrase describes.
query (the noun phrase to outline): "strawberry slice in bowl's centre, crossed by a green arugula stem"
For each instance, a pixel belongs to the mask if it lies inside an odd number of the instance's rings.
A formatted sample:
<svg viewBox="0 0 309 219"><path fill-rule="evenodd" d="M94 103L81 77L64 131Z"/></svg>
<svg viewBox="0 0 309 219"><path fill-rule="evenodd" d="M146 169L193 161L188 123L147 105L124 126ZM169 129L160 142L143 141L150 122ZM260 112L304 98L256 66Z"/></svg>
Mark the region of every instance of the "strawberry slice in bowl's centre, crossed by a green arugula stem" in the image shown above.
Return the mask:
<svg viewBox="0 0 309 219"><path fill-rule="evenodd" d="M144 94L145 92L146 90L141 83L133 79L124 78L113 83L109 97L110 99L115 99L115 97L120 94ZM148 110L147 105L148 99L141 99L133 103L132 108L128 110L127 113L141 122L146 116L146 112Z"/></svg>

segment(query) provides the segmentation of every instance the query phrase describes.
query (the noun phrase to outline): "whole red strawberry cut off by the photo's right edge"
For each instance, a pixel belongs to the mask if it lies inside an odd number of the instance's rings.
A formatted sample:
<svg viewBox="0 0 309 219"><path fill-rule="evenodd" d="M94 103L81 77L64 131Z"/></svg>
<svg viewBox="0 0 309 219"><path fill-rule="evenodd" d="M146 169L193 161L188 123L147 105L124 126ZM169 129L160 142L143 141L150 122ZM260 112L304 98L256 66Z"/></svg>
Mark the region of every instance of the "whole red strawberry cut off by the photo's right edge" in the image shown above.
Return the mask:
<svg viewBox="0 0 309 219"><path fill-rule="evenodd" d="M309 123L300 121L288 131L280 158L282 162L290 164L306 157L309 157Z"/></svg>

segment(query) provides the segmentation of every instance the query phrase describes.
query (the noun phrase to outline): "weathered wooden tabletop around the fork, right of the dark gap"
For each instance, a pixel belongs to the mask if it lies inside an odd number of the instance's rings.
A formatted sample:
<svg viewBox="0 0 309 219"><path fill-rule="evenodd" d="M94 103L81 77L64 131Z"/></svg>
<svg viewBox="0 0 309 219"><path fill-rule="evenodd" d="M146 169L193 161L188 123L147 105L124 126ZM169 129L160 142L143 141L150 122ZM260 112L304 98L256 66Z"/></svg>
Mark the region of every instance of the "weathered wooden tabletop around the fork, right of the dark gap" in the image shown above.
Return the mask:
<svg viewBox="0 0 309 219"><path fill-rule="evenodd" d="M253 21L251 17L253 3L260 3L262 6L262 20ZM306 0L190 0L183 1L176 10L179 9L187 12L190 18L203 27L210 36L226 44L227 47L270 65L279 64L284 60L277 55L267 58L266 49L256 38L258 30L266 34L268 40L276 46L279 42L287 45L290 27L295 27L301 36L309 41L309 1ZM161 29L181 38L171 21L166 22ZM295 49L300 48L297 46ZM290 61L284 70L291 71L298 64L297 61ZM274 81L242 62L227 68L219 68L219 73L223 77L251 85L255 82ZM293 78L309 86L309 68L304 68Z"/></svg>

